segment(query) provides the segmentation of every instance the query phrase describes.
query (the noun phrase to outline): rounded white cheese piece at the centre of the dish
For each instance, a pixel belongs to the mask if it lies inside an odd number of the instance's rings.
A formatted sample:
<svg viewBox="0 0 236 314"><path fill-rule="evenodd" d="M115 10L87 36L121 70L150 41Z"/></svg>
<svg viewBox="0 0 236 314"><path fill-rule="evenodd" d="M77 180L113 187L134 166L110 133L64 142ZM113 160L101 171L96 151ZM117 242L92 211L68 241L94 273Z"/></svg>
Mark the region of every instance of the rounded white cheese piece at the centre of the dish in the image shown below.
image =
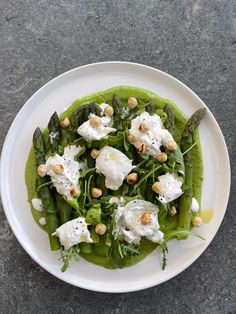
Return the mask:
<svg viewBox="0 0 236 314"><path fill-rule="evenodd" d="M105 146L96 158L96 171L102 173L106 188L118 190L132 170L132 160L116 148Z"/></svg>

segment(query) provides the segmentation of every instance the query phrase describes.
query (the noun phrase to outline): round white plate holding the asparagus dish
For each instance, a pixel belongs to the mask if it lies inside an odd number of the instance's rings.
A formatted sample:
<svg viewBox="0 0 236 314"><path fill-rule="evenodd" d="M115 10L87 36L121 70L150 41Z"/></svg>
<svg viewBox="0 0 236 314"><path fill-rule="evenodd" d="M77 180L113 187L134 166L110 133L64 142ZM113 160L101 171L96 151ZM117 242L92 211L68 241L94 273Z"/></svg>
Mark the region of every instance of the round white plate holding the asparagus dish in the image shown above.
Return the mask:
<svg viewBox="0 0 236 314"><path fill-rule="evenodd" d="M34 222L24 180L24 169L34 129L45 127L48 117L64 111L73 100L117 85L146 88L173 100L188 116L205 106L188 87L151 67L105 62L66 72L39 89L23 106L8 132L1 156L1 196L9 224L27 253L54 276L78 287L104 292L128 292L160 284L191 265L215 236L225 214L230 189L230 164L220 128L210 111L200 126L205 174L202 206L213 208L211 222L198 229L206 239L189 238L169 243L168 265L161 270L159 250L139 264L107 270L83 259L61 273L59 254L49 249L47 234ZM223 162L222 162L223 161ZM210 266L209 266L210 267Z"/></svg>

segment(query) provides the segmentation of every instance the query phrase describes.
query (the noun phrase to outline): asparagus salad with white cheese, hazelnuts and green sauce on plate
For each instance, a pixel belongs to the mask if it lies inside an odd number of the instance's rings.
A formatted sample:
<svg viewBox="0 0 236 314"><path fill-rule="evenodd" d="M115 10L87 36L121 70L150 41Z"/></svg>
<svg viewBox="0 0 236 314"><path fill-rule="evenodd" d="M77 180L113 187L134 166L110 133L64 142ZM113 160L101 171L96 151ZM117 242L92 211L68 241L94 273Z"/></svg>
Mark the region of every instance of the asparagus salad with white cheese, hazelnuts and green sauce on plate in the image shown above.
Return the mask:
<svg viewBox="0 0 236 314"><path fill-rule="evenodd" d="M36 128L25 177L36 223L61 251L62 271L79 256L123 268L203 223L198 126L170 100L114 87L76 100ZM200 237L201 238L201 237Z"/></svg>

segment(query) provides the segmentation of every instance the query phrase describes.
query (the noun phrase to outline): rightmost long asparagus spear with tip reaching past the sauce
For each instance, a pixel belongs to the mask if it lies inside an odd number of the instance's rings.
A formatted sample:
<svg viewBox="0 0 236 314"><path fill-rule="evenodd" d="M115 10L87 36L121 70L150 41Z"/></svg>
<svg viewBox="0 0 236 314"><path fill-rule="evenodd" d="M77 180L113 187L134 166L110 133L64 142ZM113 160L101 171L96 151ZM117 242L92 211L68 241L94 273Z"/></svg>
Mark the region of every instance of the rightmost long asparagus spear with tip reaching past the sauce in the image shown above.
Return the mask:
<svg viewBox="0 0 236 314"><path fill-rule="evenodd" d="M199 109L187 121L180 144L182 151L187 151L193 145L194 132L198 128L205 112L206 112L205 108ZM184 186L186 188L184 194L180 198L178 227L188 230L190 229L191 221L190 207L193 197L192 190L193 164L191 149L184 155L184 162L185 162Z"/></svg>

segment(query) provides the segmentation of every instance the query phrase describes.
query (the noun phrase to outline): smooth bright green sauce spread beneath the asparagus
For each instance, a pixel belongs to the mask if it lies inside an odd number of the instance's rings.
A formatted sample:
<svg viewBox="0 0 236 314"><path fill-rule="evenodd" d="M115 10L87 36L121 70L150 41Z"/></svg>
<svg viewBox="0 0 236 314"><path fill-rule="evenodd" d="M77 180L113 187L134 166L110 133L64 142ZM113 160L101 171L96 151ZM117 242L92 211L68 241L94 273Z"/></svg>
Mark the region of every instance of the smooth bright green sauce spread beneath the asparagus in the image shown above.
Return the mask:
<svg viewBox="0 0 236 314"><path fill-rule="evenodd" d="M167 103L170 104L175 113L175 132L174 139L176 142L179 142L181 138L181 134L183 132L184 125L187 121L187 117L183 114L183 112L171 101L168 99L161 98L150 92L148 90L131 87L131 86L118 86L113 87L101 92L97 92L95 94L82 97L72 103L72 105L61 114L60 118L70 117L72 112L80 105L85 103L90 103L92 101L96 101L97 103L102 102L111 102L112 95L117 94L122 101L127 102L127 99L131 96L138 98L143 101L147 101L148 99L152 99L160 109L162 109ZM202 153L201 153L201 145L199 140L199 135L195 136L195 141L197 144L192 149L193 151L193 195L198 200L199 204L201 203L201 188L202 188L202 180L203 180L203 162L202 162ZM36 181L36 165L34 158L34 150L31 148L29 157L26 164L25 169L25 181L28 191L28 201L31 206L31 213L40 228L46 231L46 226L42 226L39 224L40 217L44 216L44 212L36 211L32 204L32 198L37 197L37 192L35 191L35 181ZM176 219L169 217L165 220L165 229L171 230L176 228ZM149 255L155 248L157 247L156 243L153 243L145 238L141 241L141 250L139 255L130 256L125 260L126 266L131 266L139 261L143 260L147 255ZM90 254L80 254L84 259L94 264L106 267L113 268L113 266L107 262L107 252L109 247L104 243L95 245L94 250Z"/></svg>

